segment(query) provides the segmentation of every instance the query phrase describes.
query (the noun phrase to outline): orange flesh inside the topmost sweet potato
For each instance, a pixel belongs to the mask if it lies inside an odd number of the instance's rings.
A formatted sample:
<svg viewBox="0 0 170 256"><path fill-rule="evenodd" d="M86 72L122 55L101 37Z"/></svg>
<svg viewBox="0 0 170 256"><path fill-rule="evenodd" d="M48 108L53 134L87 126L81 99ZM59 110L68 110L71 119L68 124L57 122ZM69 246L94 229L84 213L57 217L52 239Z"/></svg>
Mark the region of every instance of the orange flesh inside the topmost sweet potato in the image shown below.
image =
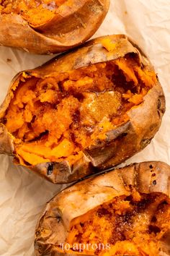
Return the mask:
<svg viewBox="0 0 170 256"><path fill-rule="evenodd" d="M58 7L67 0L0 0L1 14L21 14L31 25L42 25L50 21Z"/></svg>

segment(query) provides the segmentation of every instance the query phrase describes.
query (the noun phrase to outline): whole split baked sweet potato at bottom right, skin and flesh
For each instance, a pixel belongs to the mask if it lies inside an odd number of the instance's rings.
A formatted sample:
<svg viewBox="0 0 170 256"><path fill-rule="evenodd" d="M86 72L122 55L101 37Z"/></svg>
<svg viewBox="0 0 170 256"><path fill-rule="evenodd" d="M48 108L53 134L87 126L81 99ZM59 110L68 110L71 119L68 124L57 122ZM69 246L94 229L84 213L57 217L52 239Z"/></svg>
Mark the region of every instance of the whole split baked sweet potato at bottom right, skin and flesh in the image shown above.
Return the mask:
<svg viewBox="0 0 170 256"><path fill-rule="evenodd" d="M36 255L170 255L170 166L135 163L60 192L35 231Z"/></svg>

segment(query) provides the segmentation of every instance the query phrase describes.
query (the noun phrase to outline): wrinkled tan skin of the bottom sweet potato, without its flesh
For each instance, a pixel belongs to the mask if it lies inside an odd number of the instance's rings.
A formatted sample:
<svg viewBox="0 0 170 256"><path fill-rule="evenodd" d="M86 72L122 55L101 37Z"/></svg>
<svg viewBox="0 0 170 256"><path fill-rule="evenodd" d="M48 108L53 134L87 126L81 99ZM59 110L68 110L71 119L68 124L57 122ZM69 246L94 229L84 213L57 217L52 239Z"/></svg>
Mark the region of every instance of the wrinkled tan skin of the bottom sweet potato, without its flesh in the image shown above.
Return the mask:
<svg viewBox="0 0 170 256"><path fill-rule="evenodd" d="M153 177L153 173L156 176ZM37 222L36 255L71 255L61 253L53 246L66 241L71 221L114 197L130 195L129 186L140 193L161 192L170 197L170 166L156 161L134 163L63 190L48 202ZM46 231L44 234L40 232L42 229Z"/></svg>

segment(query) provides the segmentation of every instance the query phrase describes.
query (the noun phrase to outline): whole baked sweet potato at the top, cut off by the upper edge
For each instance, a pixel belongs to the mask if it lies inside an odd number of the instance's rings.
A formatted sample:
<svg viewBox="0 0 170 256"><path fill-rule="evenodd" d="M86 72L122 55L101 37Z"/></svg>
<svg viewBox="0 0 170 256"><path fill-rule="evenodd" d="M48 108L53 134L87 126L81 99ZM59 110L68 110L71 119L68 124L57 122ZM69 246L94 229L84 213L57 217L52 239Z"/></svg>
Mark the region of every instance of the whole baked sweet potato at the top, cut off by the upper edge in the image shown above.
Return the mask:
<svg viewBox="0 0 170 256"><path fill-rule="evenodd" d="M0 44L35 54L79 46L102 24L109 0L1 0Z"/></svg>

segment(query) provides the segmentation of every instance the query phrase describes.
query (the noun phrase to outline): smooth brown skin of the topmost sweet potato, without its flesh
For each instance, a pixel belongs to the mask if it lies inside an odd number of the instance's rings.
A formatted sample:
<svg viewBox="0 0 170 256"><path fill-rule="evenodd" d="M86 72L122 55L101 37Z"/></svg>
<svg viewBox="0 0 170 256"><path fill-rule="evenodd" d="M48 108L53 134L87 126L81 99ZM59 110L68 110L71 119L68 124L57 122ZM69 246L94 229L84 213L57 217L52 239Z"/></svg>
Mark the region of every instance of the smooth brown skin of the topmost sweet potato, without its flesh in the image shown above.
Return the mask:
<svg viewBox="0 0 170 256"><path fill-rule="evenodd" d="M67 51L94 35L108 9L109 0L68 0L52 20L37 27L19 14L0 14L0 44L34 54Z"/></svg>

